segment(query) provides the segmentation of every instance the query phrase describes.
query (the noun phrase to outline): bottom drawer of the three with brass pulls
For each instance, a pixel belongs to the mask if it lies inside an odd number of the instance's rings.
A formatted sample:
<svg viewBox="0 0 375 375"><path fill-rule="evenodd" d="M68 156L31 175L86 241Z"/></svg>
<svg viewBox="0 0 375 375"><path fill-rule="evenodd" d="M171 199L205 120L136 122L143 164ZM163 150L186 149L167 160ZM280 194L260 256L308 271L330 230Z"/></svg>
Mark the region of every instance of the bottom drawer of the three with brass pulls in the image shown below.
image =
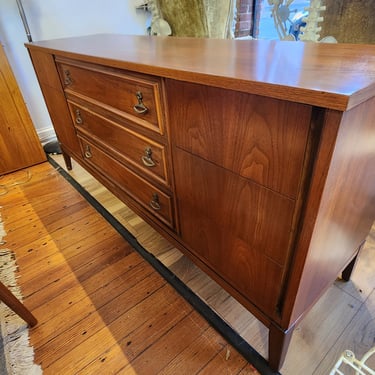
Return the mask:
<svg viewBox="0 0 375 375"><path fill-rule="evenodd" d="M172 198L150 184L123 164L79 136L82 156L87 163L98 170L112 183L139 203L149 213L174 229Z"/></svg>

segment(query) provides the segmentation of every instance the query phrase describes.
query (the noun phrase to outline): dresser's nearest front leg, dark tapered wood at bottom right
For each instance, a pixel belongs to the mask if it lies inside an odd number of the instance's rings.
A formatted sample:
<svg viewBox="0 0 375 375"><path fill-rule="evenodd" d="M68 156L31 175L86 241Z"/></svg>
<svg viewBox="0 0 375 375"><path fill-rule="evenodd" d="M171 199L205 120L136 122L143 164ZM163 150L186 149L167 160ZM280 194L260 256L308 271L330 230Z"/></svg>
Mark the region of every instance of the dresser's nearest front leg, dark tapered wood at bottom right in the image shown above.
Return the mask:
<svg viewBox="0 0 375 375"><path fill-rule="evenodd" d="M268 363L273 371L279 371L282 367L293 331L294 326L284 331L271 323L268 334Z"/></svg>

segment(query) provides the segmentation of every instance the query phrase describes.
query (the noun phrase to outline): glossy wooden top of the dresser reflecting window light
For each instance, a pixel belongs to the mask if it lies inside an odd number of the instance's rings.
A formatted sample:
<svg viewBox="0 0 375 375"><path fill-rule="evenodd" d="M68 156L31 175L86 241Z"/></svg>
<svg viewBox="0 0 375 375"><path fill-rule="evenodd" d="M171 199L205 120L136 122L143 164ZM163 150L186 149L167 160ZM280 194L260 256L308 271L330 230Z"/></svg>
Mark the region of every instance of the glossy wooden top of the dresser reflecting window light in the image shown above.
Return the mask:
<svg viewBox="0 0 375 375"><path fill-rule="evenodd" d="M26 46L337 110L375 95L374 45L98 34Z"/></svg>

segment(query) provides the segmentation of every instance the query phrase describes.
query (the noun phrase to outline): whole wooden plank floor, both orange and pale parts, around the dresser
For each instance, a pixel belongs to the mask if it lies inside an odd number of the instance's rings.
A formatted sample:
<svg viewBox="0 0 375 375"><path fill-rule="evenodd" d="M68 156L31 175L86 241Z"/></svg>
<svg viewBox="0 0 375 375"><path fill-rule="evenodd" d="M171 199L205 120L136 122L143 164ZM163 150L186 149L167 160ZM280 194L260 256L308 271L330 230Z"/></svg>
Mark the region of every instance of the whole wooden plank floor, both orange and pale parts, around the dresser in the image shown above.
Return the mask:
<svg viewBox="0 0 375 375"><path fill-rule="evenodd" d="M60 155L54 159L64 167ZM267 356L268 332L261 323L78 164L73 162L69 173L145 249ZM18 187L22 191L0 197L0 212L9 248L17 254L25 303L42 317L31 330L31 340L45 373L200 371L190 366L200 366L207 374L252 373L243 357L74 189L60 191L66 183L55 171L48 172L54 181L48 186L42 176L38 184L33 182L39 174L33 171L30 183ZM25 193L30 184L37 188L32 195ZM374 229L352 280L337 280L295 330L282 374L328 374L345 349L360 358L375 344ZM155 313L145 320L145 312L152 309Z"/></svg>

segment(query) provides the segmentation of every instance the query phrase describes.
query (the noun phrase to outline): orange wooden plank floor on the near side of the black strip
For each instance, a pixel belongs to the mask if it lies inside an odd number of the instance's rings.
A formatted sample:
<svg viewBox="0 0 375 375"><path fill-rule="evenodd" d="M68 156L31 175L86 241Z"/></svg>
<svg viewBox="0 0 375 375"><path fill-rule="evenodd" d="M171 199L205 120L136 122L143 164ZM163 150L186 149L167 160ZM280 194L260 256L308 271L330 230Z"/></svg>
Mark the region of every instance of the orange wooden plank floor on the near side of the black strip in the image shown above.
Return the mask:
<svg viewBox="0 0 375 375"><path fill-rule="evenodd" d="M49 163L28 172L1 179L0 214L45 374L257 373Z"/></svg>

